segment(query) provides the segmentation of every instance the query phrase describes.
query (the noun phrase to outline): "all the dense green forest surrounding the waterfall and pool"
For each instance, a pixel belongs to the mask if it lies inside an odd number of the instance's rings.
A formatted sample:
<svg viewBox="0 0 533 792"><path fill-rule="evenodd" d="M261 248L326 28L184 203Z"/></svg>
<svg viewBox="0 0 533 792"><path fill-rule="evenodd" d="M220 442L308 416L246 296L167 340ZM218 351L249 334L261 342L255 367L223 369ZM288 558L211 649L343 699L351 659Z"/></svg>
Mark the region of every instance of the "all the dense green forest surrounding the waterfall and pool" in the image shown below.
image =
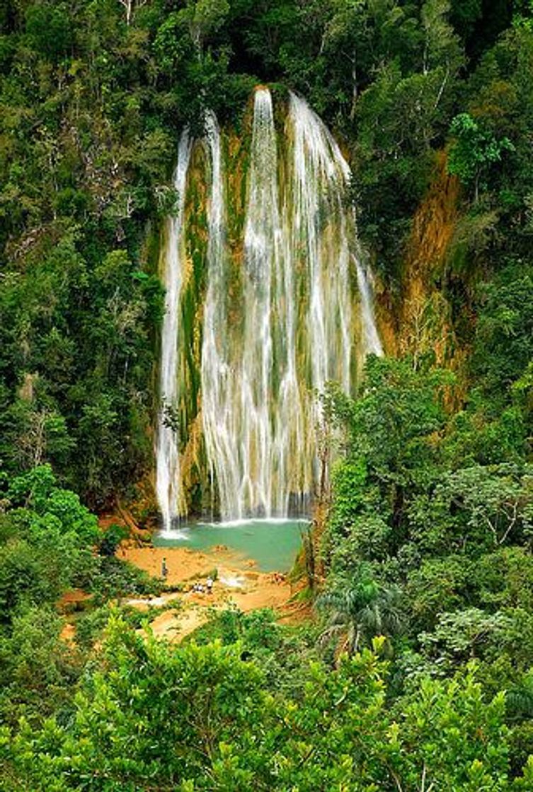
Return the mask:
<svg viewBox="0 0 533 792"><path fill-rule="evenodd" d="M531 74L530 0L2 3L0 789L533 789ZM228 611L176 648L109 604L158 586L88 507L152 466L178 131L240 124L260 81L343 139L390 304L446 151L464 364L370 358L325 394L313 626Z"/></svg>

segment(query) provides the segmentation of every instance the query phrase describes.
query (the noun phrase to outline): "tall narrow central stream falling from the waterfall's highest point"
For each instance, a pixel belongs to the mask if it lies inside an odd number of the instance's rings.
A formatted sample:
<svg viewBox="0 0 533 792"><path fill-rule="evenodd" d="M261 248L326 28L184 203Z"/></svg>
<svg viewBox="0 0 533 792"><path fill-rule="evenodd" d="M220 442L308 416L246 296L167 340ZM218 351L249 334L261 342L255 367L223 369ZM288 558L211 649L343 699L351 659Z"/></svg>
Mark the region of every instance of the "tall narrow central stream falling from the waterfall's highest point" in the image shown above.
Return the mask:
<svg viewBox="0 0 533 792"><path fill-rule="evenodd" d="M278 214L278 154L270 92L255 92L251 162L244 225L243 357L240 394L240 492L233 511L270 515L275 488L274 426L276 398L272 376L274 341L271 300L282 232ZM280 361L281 364L281 361Z"/></svg>

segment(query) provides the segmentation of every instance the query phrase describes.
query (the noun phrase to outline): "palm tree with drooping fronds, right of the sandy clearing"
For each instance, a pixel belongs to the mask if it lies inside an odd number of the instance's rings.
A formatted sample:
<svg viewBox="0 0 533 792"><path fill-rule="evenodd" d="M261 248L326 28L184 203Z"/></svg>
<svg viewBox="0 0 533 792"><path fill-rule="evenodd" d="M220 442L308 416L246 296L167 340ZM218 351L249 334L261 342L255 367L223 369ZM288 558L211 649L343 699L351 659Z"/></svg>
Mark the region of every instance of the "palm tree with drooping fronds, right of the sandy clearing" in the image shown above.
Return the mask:
<svg viewBox="0 0 533 792"><path fill-rule="evenodd" d="M371 577L320 595L316 605L328 613L320 645L338 636L342 638L339 652L349 655L358 652L362 643L370 643L375 635L389 638L397 634L404 623L400 588L381 586Z"/></svg>

